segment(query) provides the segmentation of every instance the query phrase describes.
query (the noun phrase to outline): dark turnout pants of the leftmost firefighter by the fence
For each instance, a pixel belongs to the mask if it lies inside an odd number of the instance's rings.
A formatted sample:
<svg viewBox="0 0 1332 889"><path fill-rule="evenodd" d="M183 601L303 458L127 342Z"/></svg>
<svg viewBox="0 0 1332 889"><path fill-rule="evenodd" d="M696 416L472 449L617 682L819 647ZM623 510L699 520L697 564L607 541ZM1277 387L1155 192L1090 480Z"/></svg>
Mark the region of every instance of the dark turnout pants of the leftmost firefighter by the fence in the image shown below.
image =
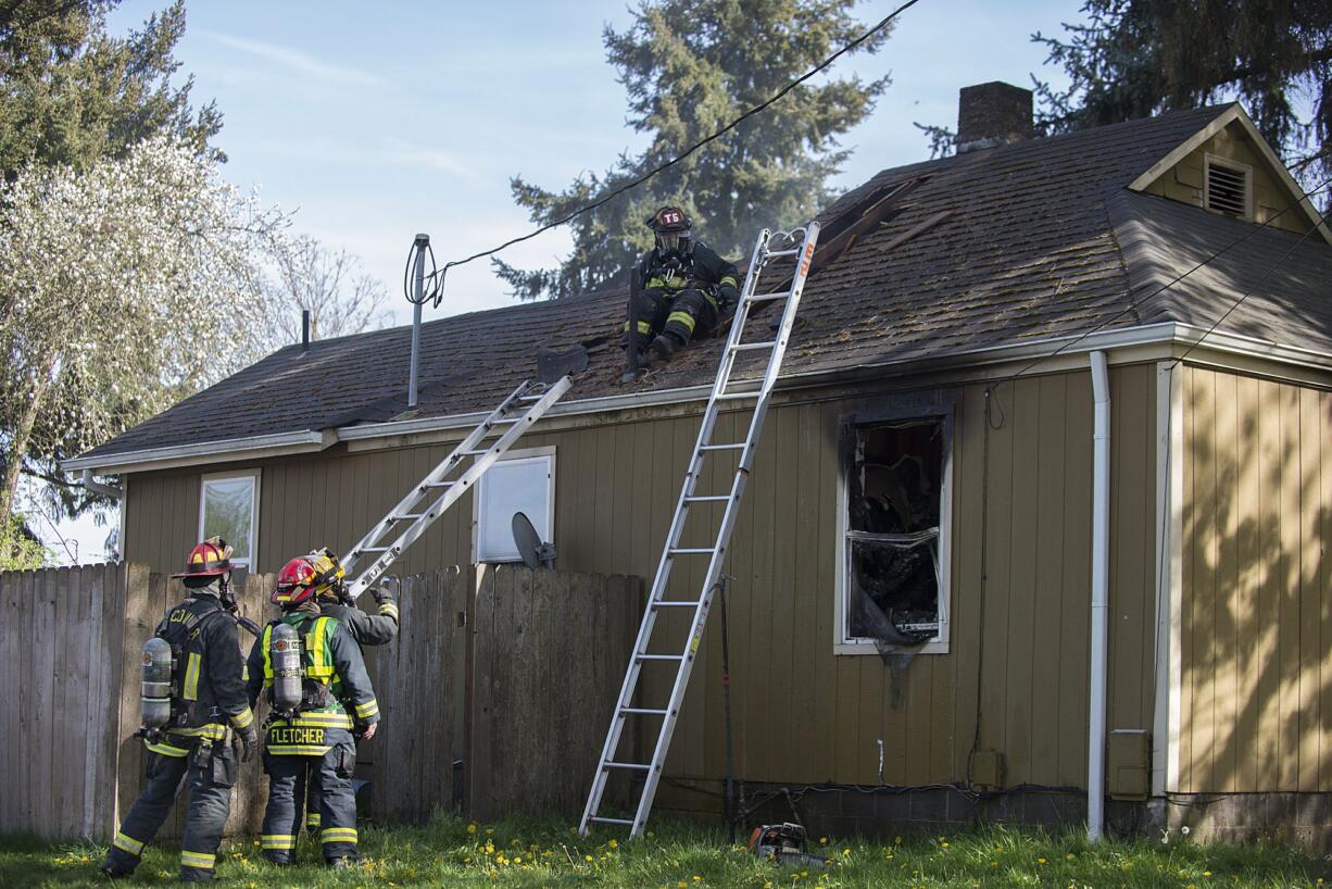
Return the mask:
<svg viewBox="0 0 1332 889"><path fill-rule="evenodd" d="M180 841L181 880L212 880L222 826L232 808L232 785L236 784L236 753L229 744L212 745L198 740L172 736L172 745L184 744L182 756L148 754L148 784L135 800L129 814L107 853L107 864L120 870L139 866L144 846L157 836L157 829L176 802L185 778L189 780L189 814L185 836Z"/></svg>

